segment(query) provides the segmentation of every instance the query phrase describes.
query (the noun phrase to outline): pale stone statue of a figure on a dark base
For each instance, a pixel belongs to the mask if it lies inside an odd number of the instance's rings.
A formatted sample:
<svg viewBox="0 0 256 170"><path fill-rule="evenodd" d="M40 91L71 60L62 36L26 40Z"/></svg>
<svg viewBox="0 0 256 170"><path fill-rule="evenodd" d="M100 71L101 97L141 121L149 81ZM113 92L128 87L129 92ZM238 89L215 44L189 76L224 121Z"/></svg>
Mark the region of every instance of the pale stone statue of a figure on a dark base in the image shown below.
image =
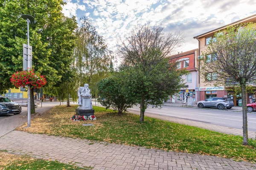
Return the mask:
<svg viewBox="0 0 256 170"><path fill-rule="evenodd" d="M79 87L77 91L78 95L78 108L82 110L93 109L90 89L88 84L84 84L84 87Z"/></svg>

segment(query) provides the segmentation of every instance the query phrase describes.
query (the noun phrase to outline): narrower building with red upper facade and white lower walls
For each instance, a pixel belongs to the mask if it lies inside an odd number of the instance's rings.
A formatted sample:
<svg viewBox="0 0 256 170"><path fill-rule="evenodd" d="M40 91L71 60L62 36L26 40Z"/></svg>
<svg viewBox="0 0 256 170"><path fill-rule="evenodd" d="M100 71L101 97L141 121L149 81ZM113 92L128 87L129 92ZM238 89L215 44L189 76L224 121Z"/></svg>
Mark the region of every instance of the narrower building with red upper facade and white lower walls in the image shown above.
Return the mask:
<svg viewBox="0 0 256 170"><path fill-rule="evenodd" d="M170 62L177 63L177 69L186 69L189 74L183 76L183 80L186 83L184 88L180 89L180 92L172 96L172 102L185 103L186 98L192 98L196 102L197 89L197 70L195 63L195 56L197 56L198 49L181 52L170 57ZM187 91L187 92L186 92Z"/></svg>

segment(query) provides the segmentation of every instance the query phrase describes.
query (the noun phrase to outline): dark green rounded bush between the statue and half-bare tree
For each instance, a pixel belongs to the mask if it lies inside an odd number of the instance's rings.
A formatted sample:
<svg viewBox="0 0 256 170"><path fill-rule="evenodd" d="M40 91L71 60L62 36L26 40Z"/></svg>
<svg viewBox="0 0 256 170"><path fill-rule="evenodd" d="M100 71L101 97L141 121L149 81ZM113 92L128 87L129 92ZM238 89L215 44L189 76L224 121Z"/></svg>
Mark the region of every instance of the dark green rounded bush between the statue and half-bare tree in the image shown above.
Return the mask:
<svg viewBox="0 0 256 170"><path fill-rule="evenodd" d="M98 83L100 96L98 101L102 106L113 108L119 114L136 104L133 99L126 96L122 87L122 75L122 72L114 72L111 77L102 79Z"/></svg>

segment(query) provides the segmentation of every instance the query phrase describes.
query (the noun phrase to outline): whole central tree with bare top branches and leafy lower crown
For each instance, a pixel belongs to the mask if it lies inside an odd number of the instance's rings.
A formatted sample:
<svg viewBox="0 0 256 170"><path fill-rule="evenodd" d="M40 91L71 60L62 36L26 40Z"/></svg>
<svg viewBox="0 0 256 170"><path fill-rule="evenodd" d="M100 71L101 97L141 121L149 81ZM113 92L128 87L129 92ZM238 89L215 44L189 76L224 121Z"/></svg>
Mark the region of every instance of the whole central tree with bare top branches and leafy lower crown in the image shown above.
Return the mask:
<svg viewBox="0 0 256 170"><path fill-rule="evenodd" d="M147 23L137 26L118 45L123 59L120 70L125 73L127 94L140 103L140 121L144 121L148 105L159 106L170 94L175 94L183 85L183 70L170 64L171 53L183 42L181 34L165 34L159 24Z"/></svg>

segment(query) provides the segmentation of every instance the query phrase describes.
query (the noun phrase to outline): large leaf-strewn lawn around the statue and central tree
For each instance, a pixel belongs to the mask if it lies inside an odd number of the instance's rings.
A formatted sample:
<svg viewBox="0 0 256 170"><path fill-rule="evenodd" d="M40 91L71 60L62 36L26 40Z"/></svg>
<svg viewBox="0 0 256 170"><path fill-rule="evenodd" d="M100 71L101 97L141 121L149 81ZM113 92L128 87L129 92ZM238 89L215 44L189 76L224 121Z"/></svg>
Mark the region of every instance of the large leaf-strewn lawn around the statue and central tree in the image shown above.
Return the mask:
<svg viewBox="0 0 256 170"><path fill-rule="evenodd" d="M41 133L71 138L91 139L118 144L136 145L161 150L256 161L255 146L242 146L242 137L213 132L198 127L180 125L160 119L125 113L119 116L112 110L93 106L97 120L87 121L94 126L73 122L76 106L56 106L31 122L31 128L19 127L29 133ZM23 125L23 127L26 125Z"/></svg>

